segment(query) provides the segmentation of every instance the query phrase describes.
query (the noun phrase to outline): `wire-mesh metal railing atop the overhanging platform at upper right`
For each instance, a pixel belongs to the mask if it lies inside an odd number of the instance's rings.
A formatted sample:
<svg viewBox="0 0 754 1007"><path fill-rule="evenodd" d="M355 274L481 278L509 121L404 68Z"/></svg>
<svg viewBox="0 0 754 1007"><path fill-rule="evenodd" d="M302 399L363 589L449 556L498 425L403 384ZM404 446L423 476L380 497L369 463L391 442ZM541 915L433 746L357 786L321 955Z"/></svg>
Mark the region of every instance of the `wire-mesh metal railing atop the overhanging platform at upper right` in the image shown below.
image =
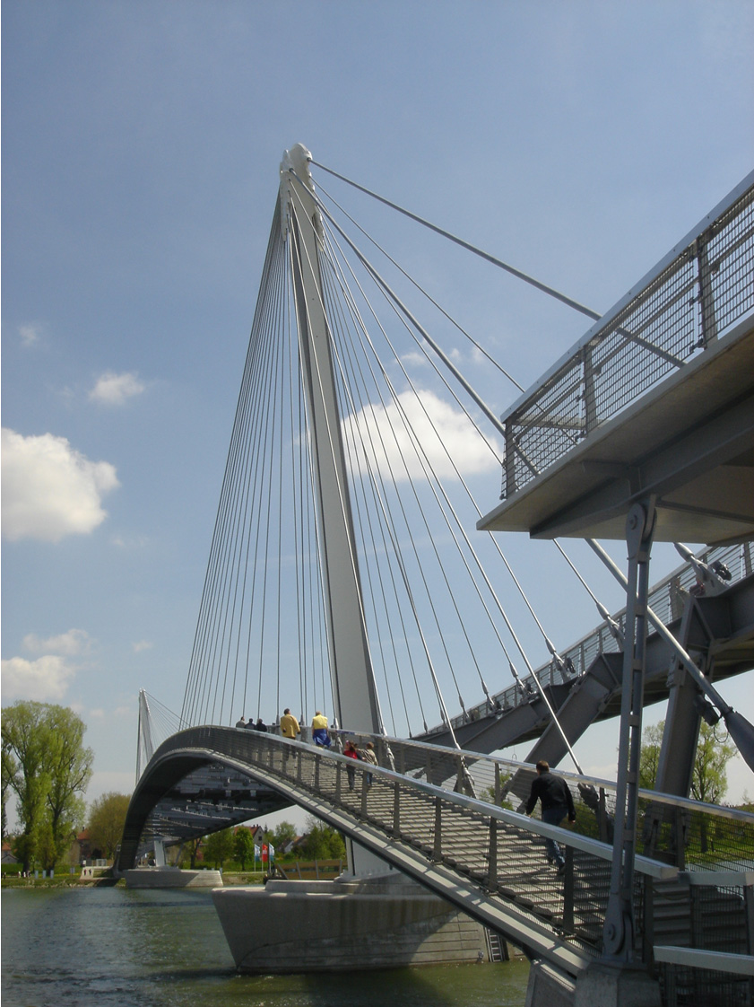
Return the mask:
<svg viewBox="0 0 754 1007"><path fill-rule="evenodd" d="M754 172L503 417L501 499L754 308Z"/></svg>

